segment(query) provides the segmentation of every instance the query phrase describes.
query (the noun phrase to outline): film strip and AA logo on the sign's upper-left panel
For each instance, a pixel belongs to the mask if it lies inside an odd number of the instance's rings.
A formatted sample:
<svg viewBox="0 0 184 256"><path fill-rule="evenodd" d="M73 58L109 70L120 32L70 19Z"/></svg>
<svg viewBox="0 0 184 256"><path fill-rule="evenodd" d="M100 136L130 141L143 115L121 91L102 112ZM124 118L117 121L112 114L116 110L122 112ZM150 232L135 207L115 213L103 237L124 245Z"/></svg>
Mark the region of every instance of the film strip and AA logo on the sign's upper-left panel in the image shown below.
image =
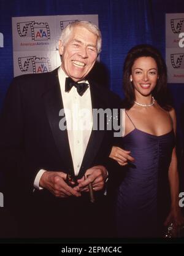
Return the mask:
<svg viewBox="0 0 184 256"><path fill-rule="evenodd" d="M17 31L20 37L30 36L34 41L45 41L50 39L50 28L47 22L18 22Z"/></svg>

